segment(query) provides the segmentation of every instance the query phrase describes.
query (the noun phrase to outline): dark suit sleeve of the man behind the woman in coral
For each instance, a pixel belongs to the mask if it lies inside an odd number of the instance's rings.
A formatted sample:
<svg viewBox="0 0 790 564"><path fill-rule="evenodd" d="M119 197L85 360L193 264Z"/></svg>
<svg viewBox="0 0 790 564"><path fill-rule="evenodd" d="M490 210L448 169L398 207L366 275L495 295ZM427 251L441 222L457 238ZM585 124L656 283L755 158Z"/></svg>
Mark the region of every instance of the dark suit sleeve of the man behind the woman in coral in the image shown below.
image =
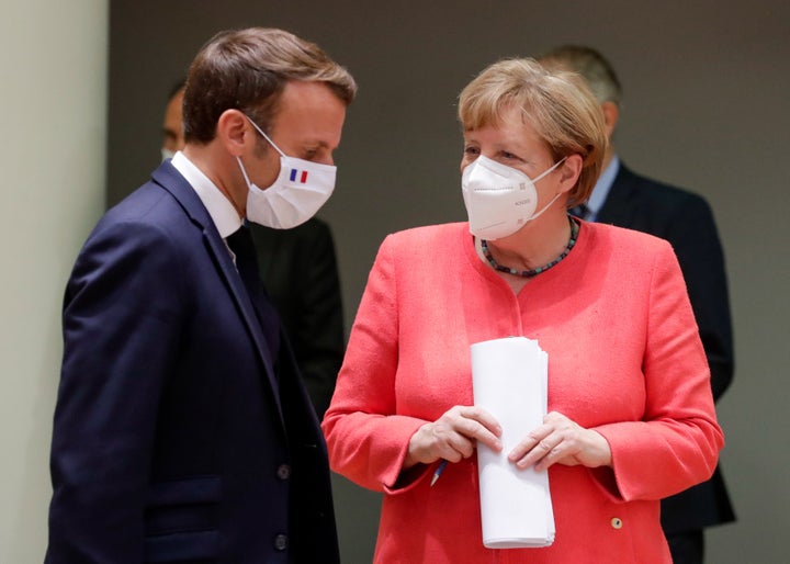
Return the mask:
<svg viewBox="0 0 790 564"><path fill-rule="evenodd" d="M711 370L713 398L732 383L734 360L724 253L708 203L693 195L667 222Z"/></svg>

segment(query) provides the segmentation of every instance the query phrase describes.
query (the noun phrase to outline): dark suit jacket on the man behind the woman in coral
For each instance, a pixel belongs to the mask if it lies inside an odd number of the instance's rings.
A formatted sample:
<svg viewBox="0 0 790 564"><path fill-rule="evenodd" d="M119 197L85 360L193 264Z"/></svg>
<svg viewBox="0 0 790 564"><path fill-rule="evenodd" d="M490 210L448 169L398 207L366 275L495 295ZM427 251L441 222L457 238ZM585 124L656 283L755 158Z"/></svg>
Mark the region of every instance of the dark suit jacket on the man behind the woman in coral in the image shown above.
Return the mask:
<svg viewBox="0 0 790 564"><path fill-rule="evenodd" d="M668 240L686 279L718 399L733 379L733 341L724 255L713 214L702 198L641 177L622 163L598 217ZM716 467L713 477L662 501L667 533L733 521L735 516Z"/></svg>

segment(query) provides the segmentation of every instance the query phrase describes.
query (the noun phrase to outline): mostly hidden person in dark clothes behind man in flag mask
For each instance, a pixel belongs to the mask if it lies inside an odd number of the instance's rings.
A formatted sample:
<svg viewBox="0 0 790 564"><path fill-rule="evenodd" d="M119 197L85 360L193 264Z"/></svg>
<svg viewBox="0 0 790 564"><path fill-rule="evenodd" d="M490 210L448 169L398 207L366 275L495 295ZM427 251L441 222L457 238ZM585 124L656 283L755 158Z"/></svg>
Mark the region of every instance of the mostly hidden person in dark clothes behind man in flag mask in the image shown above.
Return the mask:
<svg viewBox="0 0 790 564"><path fill-rule="evenodd" d="M184 80L168 95L162 160L183 149ZM290 229L250 224L263 286L280 314L318 418L329 406L346 350L340 275L329 225L318 217Z"/></svg>

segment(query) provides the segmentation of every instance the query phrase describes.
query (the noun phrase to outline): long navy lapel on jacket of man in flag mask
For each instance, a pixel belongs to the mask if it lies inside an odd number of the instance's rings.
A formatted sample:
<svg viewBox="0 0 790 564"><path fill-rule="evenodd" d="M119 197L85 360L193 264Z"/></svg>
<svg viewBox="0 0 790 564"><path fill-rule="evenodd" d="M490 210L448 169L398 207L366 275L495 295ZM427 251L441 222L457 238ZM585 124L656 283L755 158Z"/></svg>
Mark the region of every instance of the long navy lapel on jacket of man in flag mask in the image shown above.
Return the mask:
<svg viewBox="0 0 790 564"><path fill-rule="evenodd" d="M203 202L200 200L189 182L187 182L187 180L169 161L162 162L162 165L154 171L153 179L156 183L173 195L187 215L189 215L192 223L201 229L203 241L214 258L214 264L217 266L218 274L230 289L230 294L238 306L244 325L255 343L256 351L266 371L266 377L272 390L274 403L278 406L280 420L284 421L282 406L280 404L278 381L273 366L275 359L267 346L261 324L258 320L255 306L250 301L247 289L245 287L241 277L239 277L239 273L233 263L230 252L228 251L225 241L219 236L211 215L208 215L208 211L205 208Z"/></svg>

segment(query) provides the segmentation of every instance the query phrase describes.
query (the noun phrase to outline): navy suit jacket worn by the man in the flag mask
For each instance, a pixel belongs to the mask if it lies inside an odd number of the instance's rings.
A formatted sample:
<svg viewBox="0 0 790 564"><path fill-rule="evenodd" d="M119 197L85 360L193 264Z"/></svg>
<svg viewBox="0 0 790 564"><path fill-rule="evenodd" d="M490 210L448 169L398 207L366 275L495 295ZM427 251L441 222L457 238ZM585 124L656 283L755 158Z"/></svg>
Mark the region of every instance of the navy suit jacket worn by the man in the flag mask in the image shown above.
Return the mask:
<svg viewBox="0 0 790 564"><path fill-rule="evenodd" d="M170 162L68 282L46 562L338 562L318 421Z"/></svg>

